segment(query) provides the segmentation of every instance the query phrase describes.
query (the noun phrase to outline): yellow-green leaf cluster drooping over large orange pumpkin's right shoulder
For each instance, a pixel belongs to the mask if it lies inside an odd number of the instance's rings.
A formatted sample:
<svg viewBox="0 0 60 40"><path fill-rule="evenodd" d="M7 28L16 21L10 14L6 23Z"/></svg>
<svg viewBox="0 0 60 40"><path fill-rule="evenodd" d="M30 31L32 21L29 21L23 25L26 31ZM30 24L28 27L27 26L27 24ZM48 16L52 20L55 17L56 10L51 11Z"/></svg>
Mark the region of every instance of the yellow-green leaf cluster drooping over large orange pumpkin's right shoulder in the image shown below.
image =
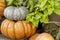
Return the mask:
<svg viewBox="0 0 60 40"><path fill-rule="evenodd" d="M38 27L39 19L42 17L42 13L30 13L26 17L27 22L32 22L33 26Z"/></svg>

